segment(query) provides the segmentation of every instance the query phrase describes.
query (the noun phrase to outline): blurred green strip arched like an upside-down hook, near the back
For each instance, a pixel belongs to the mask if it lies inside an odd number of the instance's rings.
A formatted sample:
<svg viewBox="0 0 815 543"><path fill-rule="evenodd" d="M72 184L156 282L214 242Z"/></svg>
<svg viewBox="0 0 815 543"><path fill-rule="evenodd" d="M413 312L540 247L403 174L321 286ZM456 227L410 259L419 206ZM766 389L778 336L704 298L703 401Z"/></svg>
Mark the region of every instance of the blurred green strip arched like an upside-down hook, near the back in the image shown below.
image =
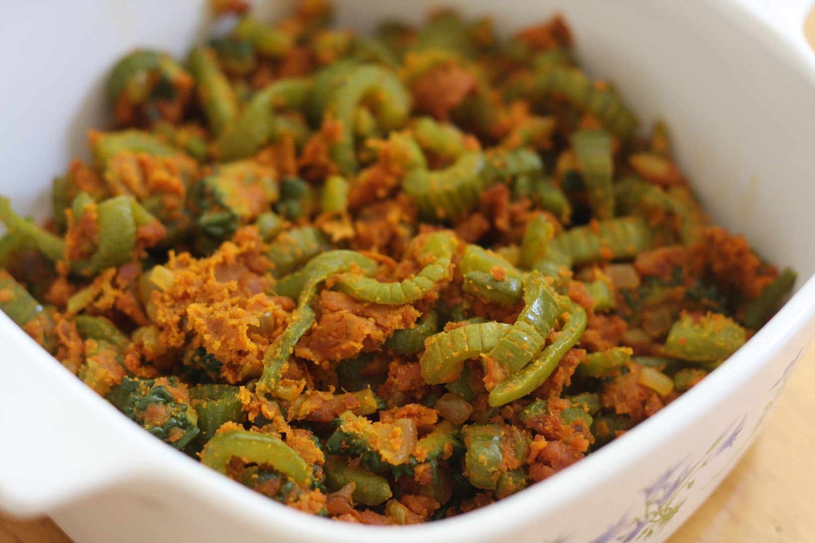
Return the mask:
<svg viewBox="0 0 815 543"><path fill-rule="evenodd" d="M347 74L342 85L333 90L327 107L327 112L342 124L341 137L333 144L331 155L346 173L357 168L355 113L367 103L383 130L402 127L410 113L410 97L393 72L380 66L360 66Z"/></svg>

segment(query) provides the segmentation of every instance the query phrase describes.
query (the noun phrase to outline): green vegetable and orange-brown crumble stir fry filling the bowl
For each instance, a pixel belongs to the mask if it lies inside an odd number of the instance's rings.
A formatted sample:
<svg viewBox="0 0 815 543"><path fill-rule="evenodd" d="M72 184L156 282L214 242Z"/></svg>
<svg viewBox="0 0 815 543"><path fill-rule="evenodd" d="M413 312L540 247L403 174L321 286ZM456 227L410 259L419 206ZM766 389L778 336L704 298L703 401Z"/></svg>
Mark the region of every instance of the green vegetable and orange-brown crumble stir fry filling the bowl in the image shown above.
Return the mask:
<svg viewBox="0 0 815 543"><path fill-rule="evenodd" d="M134 423L314 515L409 524L545 480L676 400L795 282L713 226L559 16L375 37L306 0L108 77L0 309Z"/></svg>

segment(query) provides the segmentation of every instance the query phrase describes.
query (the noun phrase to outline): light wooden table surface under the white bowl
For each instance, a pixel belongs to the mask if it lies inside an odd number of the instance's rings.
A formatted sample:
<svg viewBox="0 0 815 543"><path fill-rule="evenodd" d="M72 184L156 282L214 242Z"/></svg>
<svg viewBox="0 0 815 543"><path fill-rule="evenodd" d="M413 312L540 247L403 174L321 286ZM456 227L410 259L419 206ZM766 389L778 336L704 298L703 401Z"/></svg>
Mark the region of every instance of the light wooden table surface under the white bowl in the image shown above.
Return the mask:
<svg viewBox="0 0 815 543"><path fill-rule="evenodd" d="M669 543L815 541L815 342L756 443ZM50 519L0 516L0 543L70 543ZM77 541L81 543L81 541Z"/></svg>

